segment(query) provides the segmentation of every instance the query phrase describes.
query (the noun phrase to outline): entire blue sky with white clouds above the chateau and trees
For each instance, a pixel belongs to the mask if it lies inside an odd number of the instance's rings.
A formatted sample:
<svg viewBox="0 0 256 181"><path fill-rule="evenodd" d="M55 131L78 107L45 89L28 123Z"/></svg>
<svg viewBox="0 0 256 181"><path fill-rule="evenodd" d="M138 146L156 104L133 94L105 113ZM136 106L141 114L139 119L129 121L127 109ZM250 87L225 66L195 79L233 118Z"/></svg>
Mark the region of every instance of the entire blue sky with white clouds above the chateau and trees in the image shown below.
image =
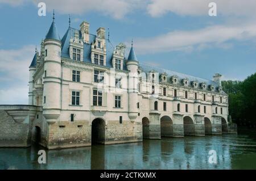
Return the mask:
<svg viewBox="0 0 256 181"><path fill-rule="evenodd" d="M46 16L38 16L45 2ZM209 3L217 16L209 16ZM139 61L212 79L256 71L255 0L0 0L0 104L27 104L28 66L52 22L62 37L82 20L109 28L113 44L131 39Z"/></svg>

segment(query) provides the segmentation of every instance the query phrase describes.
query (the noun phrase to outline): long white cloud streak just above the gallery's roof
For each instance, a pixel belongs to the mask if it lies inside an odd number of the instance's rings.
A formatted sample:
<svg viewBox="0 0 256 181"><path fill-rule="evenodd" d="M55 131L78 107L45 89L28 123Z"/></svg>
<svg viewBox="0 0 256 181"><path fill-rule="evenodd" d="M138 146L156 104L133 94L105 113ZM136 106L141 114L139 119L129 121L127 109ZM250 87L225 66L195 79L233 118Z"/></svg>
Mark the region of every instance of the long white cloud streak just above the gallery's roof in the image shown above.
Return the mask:
<svg viewBox="0 0 256 181"><path fill-rule="evenodd" d="M230 48L230 40L245 41L256 37L256 25L211 26L194 31L173 31L164 35L135 39L140 54L201 50L210 47Z"/></svg>

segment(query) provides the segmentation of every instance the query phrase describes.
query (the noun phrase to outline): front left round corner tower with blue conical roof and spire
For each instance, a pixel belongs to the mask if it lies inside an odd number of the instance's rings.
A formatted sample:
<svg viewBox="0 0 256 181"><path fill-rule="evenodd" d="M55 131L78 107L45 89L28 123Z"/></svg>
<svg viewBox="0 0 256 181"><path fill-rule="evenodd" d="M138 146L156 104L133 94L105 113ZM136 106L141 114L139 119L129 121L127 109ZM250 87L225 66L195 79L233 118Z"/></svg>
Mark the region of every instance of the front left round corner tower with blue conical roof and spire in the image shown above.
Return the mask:
<svg viewBox="0 0 256 181"><path fill-rule="evenodd" d="M55 17L44 40L43 115L48 123L55 123L61 108L61 40Z"/></svg>

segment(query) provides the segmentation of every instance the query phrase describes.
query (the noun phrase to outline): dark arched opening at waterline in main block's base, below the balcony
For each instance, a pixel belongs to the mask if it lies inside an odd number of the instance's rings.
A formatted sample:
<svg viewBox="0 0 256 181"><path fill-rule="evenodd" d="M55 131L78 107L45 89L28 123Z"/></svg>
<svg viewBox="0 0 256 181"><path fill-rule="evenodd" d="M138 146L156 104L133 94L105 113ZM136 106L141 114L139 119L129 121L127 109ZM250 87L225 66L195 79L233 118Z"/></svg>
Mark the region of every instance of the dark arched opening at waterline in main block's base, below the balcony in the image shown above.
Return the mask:
<svg viewBox="0 0 256 181"><path fill-rule="evenodd" d="M105 121L96 118L92 121L92 145L105 144Z"/></svg>

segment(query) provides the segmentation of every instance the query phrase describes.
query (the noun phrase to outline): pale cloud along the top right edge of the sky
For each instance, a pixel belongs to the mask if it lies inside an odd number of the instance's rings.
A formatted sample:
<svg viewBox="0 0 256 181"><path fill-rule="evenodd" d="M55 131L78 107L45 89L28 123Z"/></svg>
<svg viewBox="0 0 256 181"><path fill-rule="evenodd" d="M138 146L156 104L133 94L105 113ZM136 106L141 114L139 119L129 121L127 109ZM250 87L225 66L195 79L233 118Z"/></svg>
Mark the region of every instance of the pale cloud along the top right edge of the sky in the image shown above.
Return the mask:
<svg viewBox="0 0 256 181"><path fill-rule="evenodd" d="M209 3L217 4L217 14L223 16L256 16L256 1L246 0L151 0L147 6L148 14L153 17L168 12L177 15L208 16Z"/></svg>

